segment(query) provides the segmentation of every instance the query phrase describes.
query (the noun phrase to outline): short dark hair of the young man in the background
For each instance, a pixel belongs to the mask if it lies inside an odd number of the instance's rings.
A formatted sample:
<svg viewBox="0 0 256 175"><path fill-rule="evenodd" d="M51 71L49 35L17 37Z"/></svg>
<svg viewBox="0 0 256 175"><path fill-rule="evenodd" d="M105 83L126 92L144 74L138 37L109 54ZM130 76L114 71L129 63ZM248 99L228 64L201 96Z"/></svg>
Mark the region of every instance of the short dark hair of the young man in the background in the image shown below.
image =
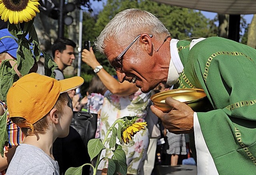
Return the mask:
<svg viewBox="0 0 256 175"><path fill-rule="evenodd" d="M59 50L61 53L66 49L66 45L76 47L76 43L68 38L58 38L52 45L52 56L54 57L55 51Z"/></svg>

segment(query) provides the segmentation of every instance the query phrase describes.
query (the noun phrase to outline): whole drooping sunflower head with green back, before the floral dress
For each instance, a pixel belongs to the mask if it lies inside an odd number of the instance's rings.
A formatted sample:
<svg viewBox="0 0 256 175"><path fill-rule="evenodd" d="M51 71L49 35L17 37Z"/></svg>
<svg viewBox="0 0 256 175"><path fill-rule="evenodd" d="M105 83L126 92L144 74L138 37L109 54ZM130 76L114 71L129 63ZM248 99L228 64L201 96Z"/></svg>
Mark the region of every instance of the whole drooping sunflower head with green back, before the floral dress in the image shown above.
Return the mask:
<svg viewBox="0 0 256 175"><path fill-rule="evenodd" d="M125 122L123 124L123 127L121 129L122 134L122 140L120 141L121 144L128 144L130 143L130 140L132 140L132 137L142 129L146 129L145 126L147 125L147 122L138 122L136 123L136 120L140 117L133 116L133 117L125 117Z"/></svg>

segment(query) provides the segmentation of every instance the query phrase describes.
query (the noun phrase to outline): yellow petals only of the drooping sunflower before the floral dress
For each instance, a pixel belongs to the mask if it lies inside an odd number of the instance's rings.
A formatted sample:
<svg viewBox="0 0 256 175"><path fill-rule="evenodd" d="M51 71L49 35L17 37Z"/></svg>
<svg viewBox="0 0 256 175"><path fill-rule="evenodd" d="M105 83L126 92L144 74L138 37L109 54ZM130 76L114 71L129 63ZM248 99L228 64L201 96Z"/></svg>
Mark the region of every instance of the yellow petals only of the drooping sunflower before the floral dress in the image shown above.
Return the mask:
<svg viewBox="0 0 256 175"><path fill-rule="evenodd" d="M122 129L122 141L121 143L130 143L132 137L142 129L146 129L145 126L147 122L139 122L139 123L130 123L128 127Z"/></svg>

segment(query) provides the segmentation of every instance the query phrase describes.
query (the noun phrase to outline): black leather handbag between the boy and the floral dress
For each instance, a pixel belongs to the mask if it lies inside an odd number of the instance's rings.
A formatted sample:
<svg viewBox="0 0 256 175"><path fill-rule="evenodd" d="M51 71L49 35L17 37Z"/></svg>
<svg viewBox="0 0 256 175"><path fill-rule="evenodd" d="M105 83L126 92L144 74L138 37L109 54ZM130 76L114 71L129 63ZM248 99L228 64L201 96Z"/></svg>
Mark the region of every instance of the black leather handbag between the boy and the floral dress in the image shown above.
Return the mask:
<svg viewBox="0 0 256 175"><path fill-rule="evenodd" d="M95 138L97 119L97 113L74 111L74 117L72 118L70 126L79 133L86 148L88 141Z"/></svg>

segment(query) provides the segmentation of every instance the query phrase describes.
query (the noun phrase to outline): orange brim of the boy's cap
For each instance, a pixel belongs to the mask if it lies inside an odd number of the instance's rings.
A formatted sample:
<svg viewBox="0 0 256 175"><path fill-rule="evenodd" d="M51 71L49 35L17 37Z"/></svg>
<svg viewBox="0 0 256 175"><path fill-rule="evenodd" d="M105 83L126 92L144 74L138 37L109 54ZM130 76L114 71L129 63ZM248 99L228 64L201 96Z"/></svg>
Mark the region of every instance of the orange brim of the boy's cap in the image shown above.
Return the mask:
<svg viewBox="0 0 256 175"><path fill-rule="evenodd" d="M76 76L64 80L59 80L59 82L62 85L60 93L64 93L81 86L84 83L84 79L82 77Z"/></svg>

